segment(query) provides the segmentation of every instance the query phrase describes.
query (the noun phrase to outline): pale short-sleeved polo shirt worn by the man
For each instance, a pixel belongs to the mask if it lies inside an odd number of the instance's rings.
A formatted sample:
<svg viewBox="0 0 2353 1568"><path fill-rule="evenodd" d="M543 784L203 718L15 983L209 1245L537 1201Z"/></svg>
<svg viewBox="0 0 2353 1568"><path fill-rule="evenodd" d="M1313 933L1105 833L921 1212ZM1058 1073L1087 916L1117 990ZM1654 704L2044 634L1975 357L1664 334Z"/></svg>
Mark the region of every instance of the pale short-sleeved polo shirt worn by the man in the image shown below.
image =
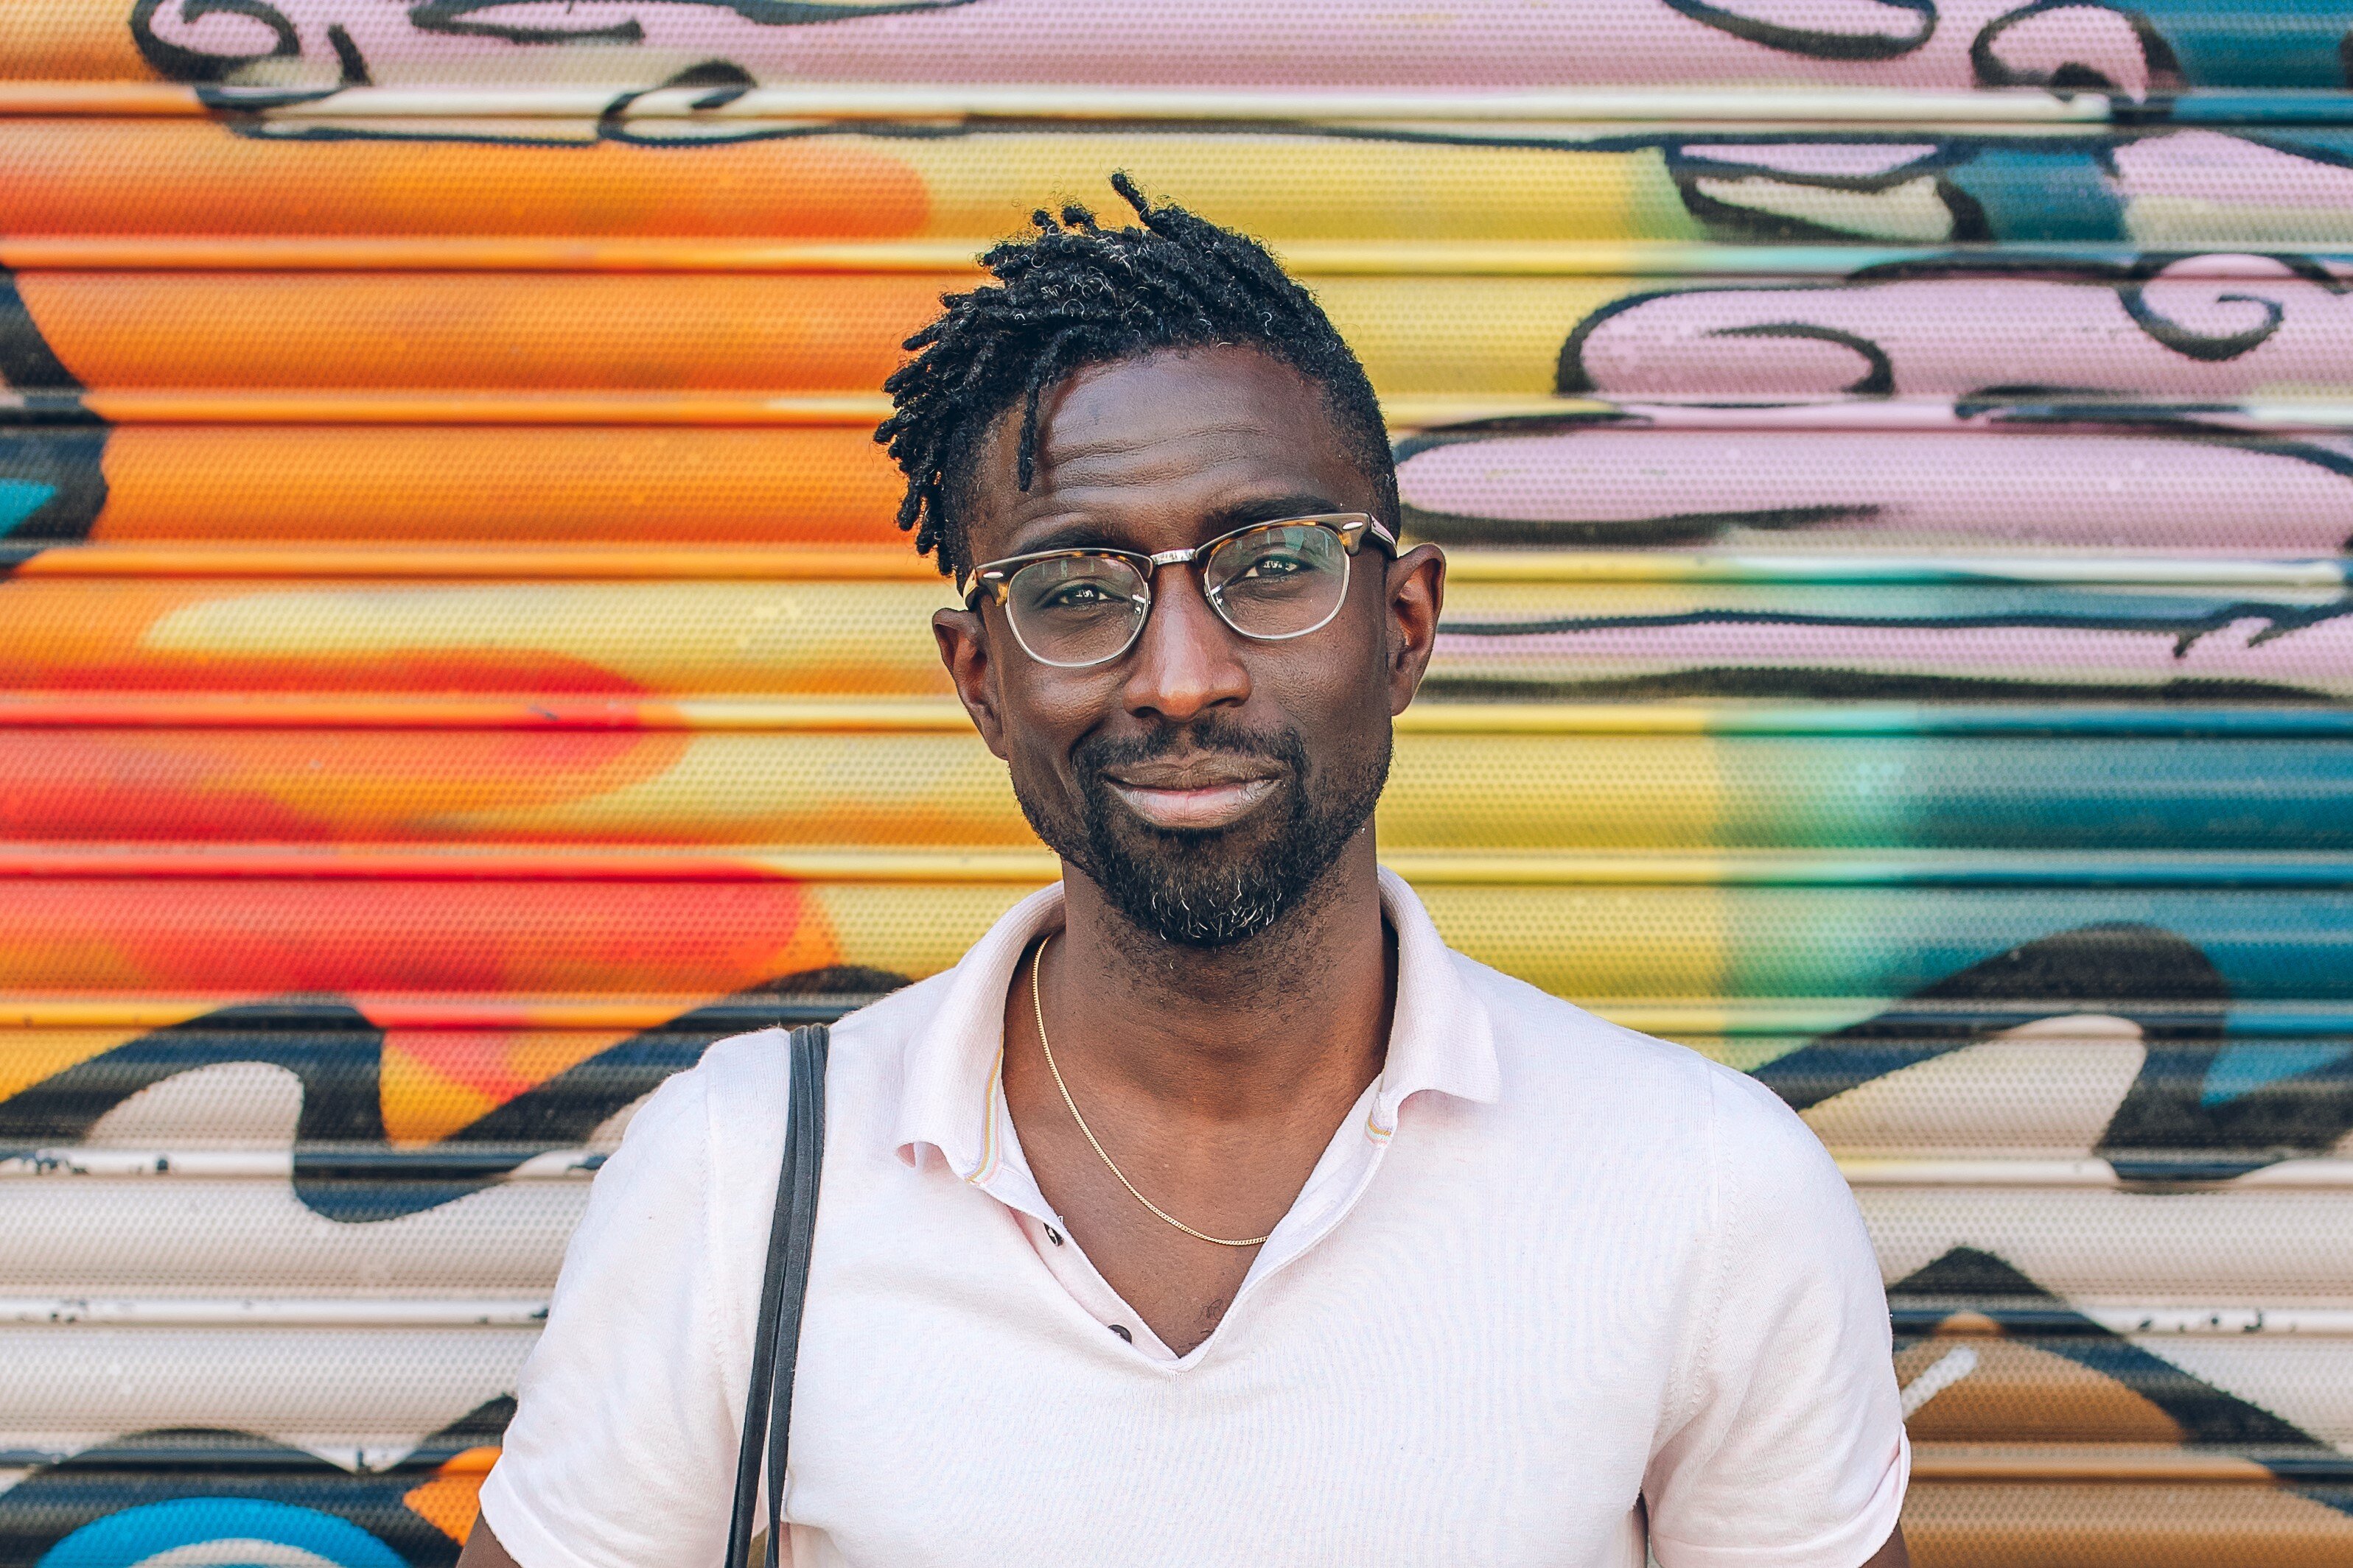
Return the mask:
<svg viewBox="0 0 2353 1568"><path fill-rule="evenodd" d="M1857 1568L1911 1450L1871 1241L1769 1091L1447 950L1405 882L1379 1081L1174 1356L1005 1114L1061 922L833 1030L795 1568ZM776 1032L595 1178L482 1514L522 1568L718 1563L784 1147Z"/></svg>

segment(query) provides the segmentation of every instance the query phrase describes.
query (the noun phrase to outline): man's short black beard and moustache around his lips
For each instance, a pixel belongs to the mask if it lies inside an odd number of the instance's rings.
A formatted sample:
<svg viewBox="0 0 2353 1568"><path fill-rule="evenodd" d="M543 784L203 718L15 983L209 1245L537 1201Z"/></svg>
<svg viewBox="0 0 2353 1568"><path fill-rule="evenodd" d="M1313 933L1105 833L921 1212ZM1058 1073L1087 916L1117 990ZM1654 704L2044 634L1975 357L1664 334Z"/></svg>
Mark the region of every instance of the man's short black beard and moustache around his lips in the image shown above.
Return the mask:
<svg viewBox="0 0 2353 1568"><path fill-rule="evenodd" d="M1282 764L1278 799L1226 827L1153 827L1127 809L1104 771L1151 762L1179 743ZM1224 719L1198 719L1153 736L1080 743L1071 755L1075 820L1024 788L1019 769L1014 799L1038 837L1087 872L1136 929L1184 947L1228 947L1273 929L1332 870L1381 799L1388 755L1384 726L1372 755L1318 776L1299 731L1261 736Z"/></svg>

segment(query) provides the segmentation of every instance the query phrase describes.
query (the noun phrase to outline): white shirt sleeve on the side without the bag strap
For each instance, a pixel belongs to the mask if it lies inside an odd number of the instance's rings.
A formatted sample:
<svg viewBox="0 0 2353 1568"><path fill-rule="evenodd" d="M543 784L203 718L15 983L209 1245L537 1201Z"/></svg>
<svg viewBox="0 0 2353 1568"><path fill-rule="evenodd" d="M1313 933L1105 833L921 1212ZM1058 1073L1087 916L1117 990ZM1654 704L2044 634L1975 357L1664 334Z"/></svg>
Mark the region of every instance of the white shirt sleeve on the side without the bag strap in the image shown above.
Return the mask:
<svg viewBox="0 0 2353 1568"><path fill-rule="evenodd" d="M1715 1227L1682 1418L1642 1486L1661 1568L1859 1568L1911 1446L1887 1293L1854 1194L1772 1091L1708 1074Z"/></svg>

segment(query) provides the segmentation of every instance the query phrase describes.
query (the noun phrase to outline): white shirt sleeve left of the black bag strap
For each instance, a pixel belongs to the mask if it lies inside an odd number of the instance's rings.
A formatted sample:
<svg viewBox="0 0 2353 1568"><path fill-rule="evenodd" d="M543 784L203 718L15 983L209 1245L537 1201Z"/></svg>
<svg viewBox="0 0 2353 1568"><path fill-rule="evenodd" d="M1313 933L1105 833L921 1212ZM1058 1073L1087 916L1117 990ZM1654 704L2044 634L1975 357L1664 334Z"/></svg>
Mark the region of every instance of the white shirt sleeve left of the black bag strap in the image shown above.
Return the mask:
<svg viewBox="0 0 2353 1568"><path fill-rule="evenodd" d="M732 1128L715 1159L711 1103L744 1072L744 1046L713 1046L635 1114L598 1171L525 1361L515 1420L482 1483L482 1516L522 1568L642 1568L715 1563L751 1378L758 1276L722 1244L744 1222L765 1227L781 1147L776 1128ZM755 1051L753 1060L774 1060ZM734 1072L729 1072L734 1067ZM732 1105L739 1098L727 1095ZM765 1124L767 1117L760 1117ZM751 1168L765 1164L767 1190ZM720 1171L713 1171L713 1166Z"/></svg>

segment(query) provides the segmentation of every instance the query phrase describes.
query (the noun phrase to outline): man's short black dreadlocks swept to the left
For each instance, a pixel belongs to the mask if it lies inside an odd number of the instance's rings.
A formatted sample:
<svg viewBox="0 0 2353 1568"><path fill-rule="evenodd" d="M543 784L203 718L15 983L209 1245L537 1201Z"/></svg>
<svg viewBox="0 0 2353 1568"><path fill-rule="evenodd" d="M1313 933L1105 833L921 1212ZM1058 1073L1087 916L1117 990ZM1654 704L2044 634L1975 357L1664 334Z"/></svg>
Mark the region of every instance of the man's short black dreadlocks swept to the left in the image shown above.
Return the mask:
<svg viewBox="0 0 2353 1568"><path fill-rule="evenodd" d="M1144 228L1099 228L1075 202L1038 209L1038 233L981 256L998 282L944 294L946 310L911 336L915 357L882 390L894 414L875 430L906 473L899 527L941 574L972 567L960 491L981 435L1021 404L1014 458L1021 489L1038 470L1038 400L1073 371L1158 348L1257 348L1322 388L1341 437L1372 475L1381 520L1398 524L1398 468L1372 381L1306 289L1266 247L1184 207L1153 207L1127 174L1111 188ZM920 350L920 353L918 353Z"/></svg>

